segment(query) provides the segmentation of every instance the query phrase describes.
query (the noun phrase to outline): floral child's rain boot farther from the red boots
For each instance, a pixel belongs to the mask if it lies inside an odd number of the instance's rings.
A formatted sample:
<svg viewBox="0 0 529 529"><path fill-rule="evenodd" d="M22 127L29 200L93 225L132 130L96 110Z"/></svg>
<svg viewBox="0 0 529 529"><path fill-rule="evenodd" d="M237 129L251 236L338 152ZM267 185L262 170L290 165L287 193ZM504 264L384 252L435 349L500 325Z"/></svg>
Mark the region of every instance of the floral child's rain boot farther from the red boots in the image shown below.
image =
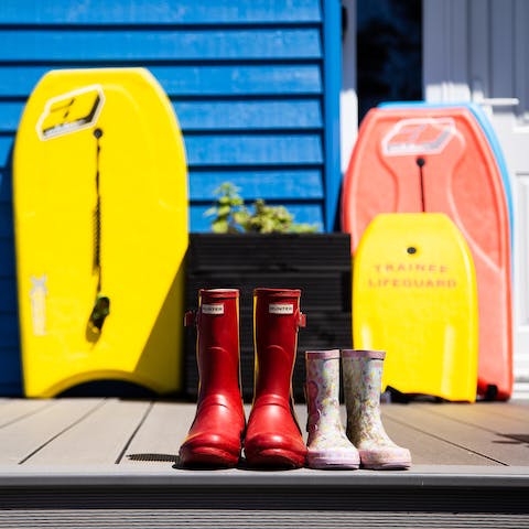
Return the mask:
<svg viewBox="0 0 529 529"><path fill-rule="evenodd" d="M410 451L389 439L380 418L385 356L382 350L342 350L347 436L364 468L403 469L411 465Z"/></svg>

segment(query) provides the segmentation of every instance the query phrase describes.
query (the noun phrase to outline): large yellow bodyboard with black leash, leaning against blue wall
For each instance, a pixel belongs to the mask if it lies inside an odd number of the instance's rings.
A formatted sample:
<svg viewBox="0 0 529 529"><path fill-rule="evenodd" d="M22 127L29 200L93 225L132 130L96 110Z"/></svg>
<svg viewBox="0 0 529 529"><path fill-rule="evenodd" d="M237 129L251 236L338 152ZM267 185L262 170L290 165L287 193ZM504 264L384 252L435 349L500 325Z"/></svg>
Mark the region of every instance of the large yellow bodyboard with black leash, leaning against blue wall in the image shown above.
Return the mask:
<svg viewBox="0 0 529 529"><path fill-rule="evenodd" d="M181 389L187 174L143 68L53 71L13 155L25 393L93 380Z"/></svg>

